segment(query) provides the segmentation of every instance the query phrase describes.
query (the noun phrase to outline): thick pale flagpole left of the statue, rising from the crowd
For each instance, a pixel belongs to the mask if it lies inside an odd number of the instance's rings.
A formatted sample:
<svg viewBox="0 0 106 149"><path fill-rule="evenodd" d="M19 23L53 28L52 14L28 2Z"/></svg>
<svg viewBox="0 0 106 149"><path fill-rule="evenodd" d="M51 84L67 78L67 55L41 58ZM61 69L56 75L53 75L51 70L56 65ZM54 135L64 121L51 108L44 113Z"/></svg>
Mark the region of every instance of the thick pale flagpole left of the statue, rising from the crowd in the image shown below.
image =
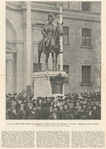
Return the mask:
<svg viewBox="0 0 106 149"><path fill-rule="evenodd" d="M31 96L31 2L27 1L27 50L26 50L26 85L27 85L27 101Z"/></svg>

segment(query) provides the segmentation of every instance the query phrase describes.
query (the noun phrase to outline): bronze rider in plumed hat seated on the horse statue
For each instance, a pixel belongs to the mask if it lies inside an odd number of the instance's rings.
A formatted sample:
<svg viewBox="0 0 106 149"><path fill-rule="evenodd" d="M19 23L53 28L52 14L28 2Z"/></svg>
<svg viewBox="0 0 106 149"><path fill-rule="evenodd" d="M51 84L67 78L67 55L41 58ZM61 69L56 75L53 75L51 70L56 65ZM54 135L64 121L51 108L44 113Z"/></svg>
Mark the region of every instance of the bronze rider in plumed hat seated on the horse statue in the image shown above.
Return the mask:
<svg viewBox="0 0 106 149"><path fill-rule="evenodd" d="M49 43L51 42L51 45L54 46L55 42L53 37L53 33L55 31L55 26L52 23L54 21L54 15L52 13L48 14L48 23L44 25L43 30L41 33L43 34L43 49L44 52L47 52L45 49L48 47Z"/></svg>

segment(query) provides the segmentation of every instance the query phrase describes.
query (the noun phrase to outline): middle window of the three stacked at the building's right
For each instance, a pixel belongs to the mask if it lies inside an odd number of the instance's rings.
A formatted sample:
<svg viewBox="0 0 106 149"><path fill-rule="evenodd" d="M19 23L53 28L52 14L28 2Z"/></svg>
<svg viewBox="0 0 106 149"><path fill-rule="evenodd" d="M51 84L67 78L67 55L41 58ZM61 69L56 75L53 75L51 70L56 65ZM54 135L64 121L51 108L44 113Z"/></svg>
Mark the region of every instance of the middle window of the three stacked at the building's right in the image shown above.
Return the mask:
<svg viewBox="0 0 106 149"><path fill-rule="evenodd" d="M82 28L82 46L91 46L91 29Z"/></svg>

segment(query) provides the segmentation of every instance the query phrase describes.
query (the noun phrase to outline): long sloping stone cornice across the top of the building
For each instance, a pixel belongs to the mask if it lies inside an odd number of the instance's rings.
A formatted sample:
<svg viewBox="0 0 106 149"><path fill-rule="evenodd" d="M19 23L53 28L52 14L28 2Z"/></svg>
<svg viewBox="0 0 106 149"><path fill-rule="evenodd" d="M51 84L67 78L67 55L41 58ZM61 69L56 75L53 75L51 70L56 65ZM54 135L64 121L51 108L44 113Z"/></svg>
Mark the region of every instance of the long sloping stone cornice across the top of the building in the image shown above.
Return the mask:
<svg viewBox="0 0 106 149"><path fill-rule="evenodd" d="M32 11L38 11L38 12L42 12L42 13L54 13L54 15L59 15L59 8L56 7L51 7L47 5L47 7L41 7L43 6L43 3L32 3ZM6 7L9 7L11 9L16 9L16 10L24 10L26 9L26 3L25 2L16 2L16 3L12 3L12 2L6 2ZM96 13L96 12L83 12L81 10L72 10L72 9L67 9L67 10L63 10L63 18L67 18L67 19L73 19L73 20L82 20L82 21L93 21L93 22L101 22L101 17L100 17L100 13ZM23 22L24 24L24 22ZM32 21L33 24L33 21Z"/></svg>

